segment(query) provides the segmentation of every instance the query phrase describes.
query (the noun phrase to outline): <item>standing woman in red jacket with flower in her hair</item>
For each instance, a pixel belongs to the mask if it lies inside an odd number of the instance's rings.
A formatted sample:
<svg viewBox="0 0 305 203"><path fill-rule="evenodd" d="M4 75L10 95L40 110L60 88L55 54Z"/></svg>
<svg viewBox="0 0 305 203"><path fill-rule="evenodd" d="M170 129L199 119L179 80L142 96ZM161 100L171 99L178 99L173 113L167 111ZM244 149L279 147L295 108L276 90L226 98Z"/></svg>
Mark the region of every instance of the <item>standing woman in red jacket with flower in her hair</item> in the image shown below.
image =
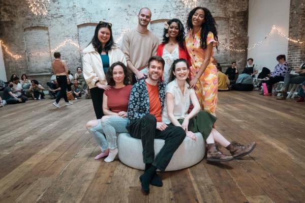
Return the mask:
<svg viewBox="0 0 305 203"><path fill-rule="evenodd" d="M179 19L173 18L165 23L163 41L158 46L157 55L164 61L163 81L168 83L170 67L176 59L185 59L190 63L190 56L185 45L184 26Z"/></svg>

